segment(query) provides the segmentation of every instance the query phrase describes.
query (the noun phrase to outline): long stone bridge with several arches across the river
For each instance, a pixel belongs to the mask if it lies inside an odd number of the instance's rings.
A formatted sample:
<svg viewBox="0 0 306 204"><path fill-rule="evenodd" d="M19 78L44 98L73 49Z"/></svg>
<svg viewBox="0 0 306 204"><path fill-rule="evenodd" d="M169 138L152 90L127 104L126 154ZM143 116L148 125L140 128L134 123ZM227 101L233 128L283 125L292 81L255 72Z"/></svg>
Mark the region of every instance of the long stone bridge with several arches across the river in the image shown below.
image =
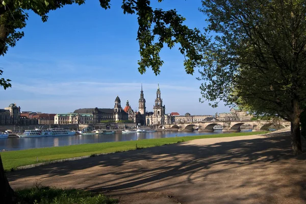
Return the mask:
<svg viewBox="0 0 306 204"><path fill-rule="evenodd" d="M159 128L163 126L165 129L180 129L180 130L194 130L198 128L199 131L214 131L213 127L215 125L223 126L224 132L227 131L240 131L241 125L250 126L254 131L266 130L269 126L275 125L275 122L272 120L238 120L238 121L203 121L203 122L195 122L195 123L184 123L184 124L167 124L160 125ZM281 128L290 126L290 122L281 121L277 125Z"/></svg>

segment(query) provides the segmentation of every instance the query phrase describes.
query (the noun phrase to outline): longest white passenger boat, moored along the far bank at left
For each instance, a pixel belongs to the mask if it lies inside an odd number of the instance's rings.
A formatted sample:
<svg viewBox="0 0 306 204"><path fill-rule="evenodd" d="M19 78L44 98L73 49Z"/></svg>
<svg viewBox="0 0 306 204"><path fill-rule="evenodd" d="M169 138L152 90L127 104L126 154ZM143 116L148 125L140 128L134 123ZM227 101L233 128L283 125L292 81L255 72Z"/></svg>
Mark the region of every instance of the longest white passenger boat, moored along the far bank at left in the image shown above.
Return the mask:
<svg viewBox="0 0 306 204"><path fill-rule="evenodd" d="M75 131L63 128L48 128L46 130L36 128L35 130L25 130L22 135L17 134L18 137L56 137L71 135L75 135Z"/></svg>

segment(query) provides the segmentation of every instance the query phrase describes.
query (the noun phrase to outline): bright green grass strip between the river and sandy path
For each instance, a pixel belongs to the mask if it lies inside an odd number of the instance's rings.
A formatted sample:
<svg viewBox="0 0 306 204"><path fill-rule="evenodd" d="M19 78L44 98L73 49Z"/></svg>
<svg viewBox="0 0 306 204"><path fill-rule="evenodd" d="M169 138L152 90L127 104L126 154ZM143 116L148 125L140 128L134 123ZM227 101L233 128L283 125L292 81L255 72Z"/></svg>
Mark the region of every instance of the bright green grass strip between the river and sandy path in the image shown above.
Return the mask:
<svg viewBox="0 0 306 204"><path fill-rule="evenodd" d="M124 141L124 142L78 144L78 145L60 146L60 147L6 151L6 152L1 152L1 157L4 169L9 171L10 169L16 169L16 167L18 166L24 166L29 164L36 164L36 163L48 162L60 159L67 159L73 157L81 157L81 156L94 157L97 154L135 150L135 149L161 146L165 144L173 144L184 141L186 142L195 139L257 135L257 134L264 134L267 132L268 131L228 133L228 134L216 134L216 135L144 139L144 140ZM36 161L36 157L38 157L38 162Z"/></svg>

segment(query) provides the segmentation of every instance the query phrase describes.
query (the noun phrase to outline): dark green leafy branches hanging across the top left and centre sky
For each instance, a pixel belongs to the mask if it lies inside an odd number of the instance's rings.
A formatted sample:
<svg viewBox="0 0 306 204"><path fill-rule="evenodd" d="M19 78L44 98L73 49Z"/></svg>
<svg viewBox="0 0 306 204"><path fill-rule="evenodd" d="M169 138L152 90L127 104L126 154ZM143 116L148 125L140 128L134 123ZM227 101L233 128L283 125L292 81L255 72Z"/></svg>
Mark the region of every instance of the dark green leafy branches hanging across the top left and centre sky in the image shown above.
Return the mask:
<svg viewBox="0 0 306 204"><path fill-rule="evenodd" d="M152 0L153 1L153 0ZM162 0L157 0L162 2ZM0 0L0 55L7 53L8 47L15 46L24 33L21 31L28 20L28 11L32 10L41 16L43 22L48 19L48 12L71 4L85 4L85 0ZM110 9L110 0L99 0L100 6ZM173 48L180 44L179 50L184 55L184 66L192 74L194 67L202 59L197 46L206 43L198 29L189 29L184 25L185 18L175 9L163 11L150 6L150 0L123 0L124 14L136 14L139 28L140 60L138 70L142 74L152 68L157 75L163 65L159 53L164 45Z"/></svg>

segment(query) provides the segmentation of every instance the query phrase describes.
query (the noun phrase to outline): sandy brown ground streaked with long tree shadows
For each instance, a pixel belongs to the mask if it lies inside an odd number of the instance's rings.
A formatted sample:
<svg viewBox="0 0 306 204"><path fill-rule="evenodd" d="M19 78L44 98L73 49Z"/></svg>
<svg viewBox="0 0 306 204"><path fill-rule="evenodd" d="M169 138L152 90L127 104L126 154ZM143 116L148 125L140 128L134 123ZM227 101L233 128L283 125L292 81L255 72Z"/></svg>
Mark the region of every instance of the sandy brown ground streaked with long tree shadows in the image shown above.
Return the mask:
<svg viewBox="0 0 306 204"><path fill-rule="evenodd" d="M306 203L288 133L198 139L9 172L14 189L80 188L120 203Z"/></svg>

